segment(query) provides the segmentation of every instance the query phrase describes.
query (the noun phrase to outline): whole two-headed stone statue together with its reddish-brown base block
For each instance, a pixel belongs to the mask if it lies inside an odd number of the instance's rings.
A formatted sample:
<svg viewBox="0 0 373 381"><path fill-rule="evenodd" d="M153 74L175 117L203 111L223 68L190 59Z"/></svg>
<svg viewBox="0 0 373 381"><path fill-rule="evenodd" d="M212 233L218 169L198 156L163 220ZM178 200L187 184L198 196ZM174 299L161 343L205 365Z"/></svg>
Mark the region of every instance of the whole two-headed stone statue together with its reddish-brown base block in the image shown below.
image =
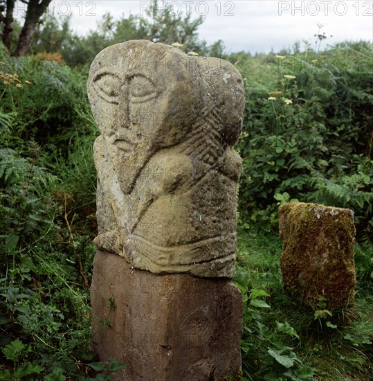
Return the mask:
<svg viewBox="0 0 373 381"><path fill-rule="evenodd" d="M241 76L216 58L128 41L95 57L88 94L101 132L93 350L129 364L114 380L238 380Z"/></svg>

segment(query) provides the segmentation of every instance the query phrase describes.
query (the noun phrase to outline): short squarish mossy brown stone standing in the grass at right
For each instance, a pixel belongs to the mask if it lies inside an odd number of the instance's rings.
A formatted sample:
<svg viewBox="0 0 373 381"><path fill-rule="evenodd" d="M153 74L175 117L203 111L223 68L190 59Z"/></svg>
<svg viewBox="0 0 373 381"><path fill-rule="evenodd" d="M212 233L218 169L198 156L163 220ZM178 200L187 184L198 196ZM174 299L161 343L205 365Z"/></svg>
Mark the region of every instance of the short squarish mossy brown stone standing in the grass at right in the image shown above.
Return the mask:
<svg viewBox="0 0 373 381"><path fill-rule="evenodd" d="M302 292L311 305L324 296L329 311L353 309L356 231L352 211L288 203L280 206L279 214L280 265L286 289Z"/></svg>

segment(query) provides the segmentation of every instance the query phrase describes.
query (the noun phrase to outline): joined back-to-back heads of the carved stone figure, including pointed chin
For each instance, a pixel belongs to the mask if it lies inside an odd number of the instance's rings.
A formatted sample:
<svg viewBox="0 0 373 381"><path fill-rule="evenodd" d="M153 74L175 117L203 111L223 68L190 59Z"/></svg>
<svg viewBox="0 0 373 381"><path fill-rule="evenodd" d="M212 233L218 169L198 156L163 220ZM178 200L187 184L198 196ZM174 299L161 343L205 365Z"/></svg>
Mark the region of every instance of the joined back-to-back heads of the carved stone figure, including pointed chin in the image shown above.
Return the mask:
<svg viewBox="0 0 373 381"><path fill-rule="evenodd" d="M125 193L136 168L154 152L181 143L197 123L210 119L228 145L241 131L244 91L238 71L228 62L190 57L165 44L132 40L105 48L91 64L87 90Z"/></svg>

